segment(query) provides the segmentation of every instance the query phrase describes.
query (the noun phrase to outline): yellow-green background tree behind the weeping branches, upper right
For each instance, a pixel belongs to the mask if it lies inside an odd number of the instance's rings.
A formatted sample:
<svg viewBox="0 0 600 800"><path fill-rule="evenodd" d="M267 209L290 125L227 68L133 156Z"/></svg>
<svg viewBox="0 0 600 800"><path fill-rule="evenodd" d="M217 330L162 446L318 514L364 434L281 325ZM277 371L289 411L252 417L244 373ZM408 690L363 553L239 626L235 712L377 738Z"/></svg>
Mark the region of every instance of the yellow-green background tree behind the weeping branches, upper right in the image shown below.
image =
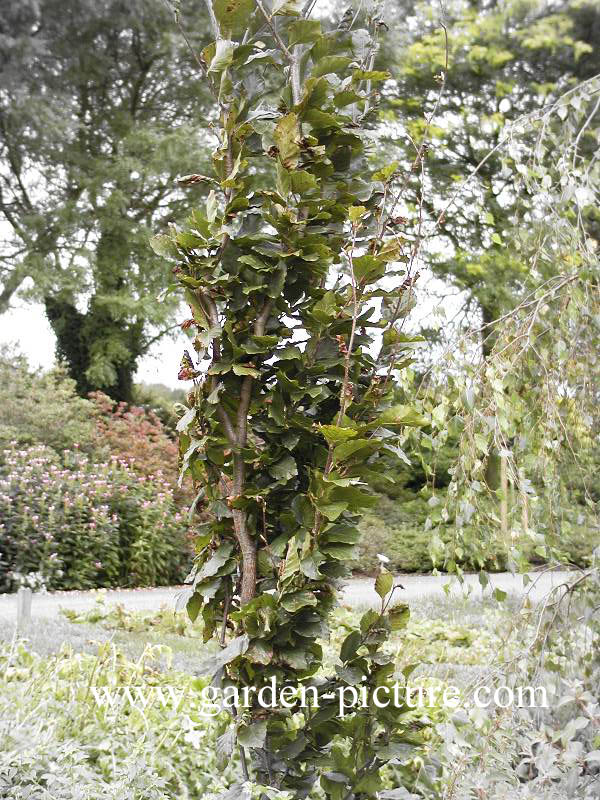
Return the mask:
<svg viewBox="0 0 600 800"><path fill-rule="evenodd" d="M434 274L466 290L466 310L491 323L535 284L542 267L541 277L560 271L546 261L532 274L529 254L519 249L519 231L531 228L534 209L528 192L517 188L519 157L500 146L506 126L600 73L600 11L587 0L551 6L457 0L444 5L446 54L437 10L429 4L400 8L414 16L408 28L392 33L381 55L397 81L382 98L393 123L386 141L401 163L410 164L425 136L426 182L415 176L407 186L410 208L422 210L421 225L437 220L461 180L477 170L424 247ZM426 117L436 107L427 130L423 105ZM532 136L532 146L534 141ZM414 235L410 228L407 233ZM482 336L484 355L493 345L490 332Z"/></svg>

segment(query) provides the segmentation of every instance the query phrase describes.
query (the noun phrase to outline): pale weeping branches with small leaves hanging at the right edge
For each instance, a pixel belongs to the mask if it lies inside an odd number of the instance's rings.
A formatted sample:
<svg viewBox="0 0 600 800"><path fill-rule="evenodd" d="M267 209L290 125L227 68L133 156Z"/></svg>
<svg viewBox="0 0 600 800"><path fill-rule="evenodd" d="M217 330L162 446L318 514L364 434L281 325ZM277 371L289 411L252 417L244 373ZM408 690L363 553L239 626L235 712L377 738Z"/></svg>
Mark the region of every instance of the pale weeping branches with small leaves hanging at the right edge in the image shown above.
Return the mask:
<svg viewBox="0 0 600 800"><path fill-rule="evenodd" d="M457 349L455 390L432 408L434 441L443 441L450 426L462 431L449 503L434 510L432 521L455 513L458 552L466 526L489 530L501 523L511 565L523 563L524 539L542 557L560 558L576 526L592 538L598 530L590 480L598 462L598 164L588 149L598 130L597 91L594 78L511 131L512 152L523 160L521 188L536 210L520 244L539 283L503 316L485 362L472 358L466 341ZM546 263L560 265L560 274L544 280ZM489 480L494 454L504 460L504 485ZM509 486L518 497L510 510ZM482 551L486 541L479 540ZM433 543L444 550L439 537ZM477 546L472 538L471 544Z"/></svg>

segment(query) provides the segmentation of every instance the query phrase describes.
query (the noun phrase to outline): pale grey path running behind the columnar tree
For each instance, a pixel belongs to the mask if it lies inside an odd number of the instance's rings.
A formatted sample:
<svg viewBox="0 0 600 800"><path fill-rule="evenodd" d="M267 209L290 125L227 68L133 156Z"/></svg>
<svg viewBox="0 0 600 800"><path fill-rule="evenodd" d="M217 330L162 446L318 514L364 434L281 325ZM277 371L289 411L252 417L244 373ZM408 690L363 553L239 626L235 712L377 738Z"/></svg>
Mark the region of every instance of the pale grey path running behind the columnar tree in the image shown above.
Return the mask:
<svg viewBox="0 0 600 800"><path fill-rule="evenodd" d="M577 573L541 572L531 573L532 584L523 587L521 576L513 576L502 572L489 576L489 586L483 594L489 595L495 589L502 589L510 595L523 595L526 592L534 602L543 599L553 587L560 586L569 577ZM377 605L379 598L373 589L373 578L352 578L343 590L343 602L350 606ZM482 588L477 575L465 576L465 587L447 575L398 575L396 583L404 587L396 593L397 600L415 604L420 599L444 596L444 586L451 584L450 591L461 595L471 592L473 597L482 596ZM31 613L33 618L57 617L62 607L73 611L86 611L93 607L96 599L102 594L107 603L122 603L131 611L152 611L161 606L174 608L183 587L165 587L158 589L115 589L90 592L54 592L52 594L35 593L32 599ZM181 605L181 601L180 601ZM17 614L16 595L0 595L0 626L12 624Z"/></svg>

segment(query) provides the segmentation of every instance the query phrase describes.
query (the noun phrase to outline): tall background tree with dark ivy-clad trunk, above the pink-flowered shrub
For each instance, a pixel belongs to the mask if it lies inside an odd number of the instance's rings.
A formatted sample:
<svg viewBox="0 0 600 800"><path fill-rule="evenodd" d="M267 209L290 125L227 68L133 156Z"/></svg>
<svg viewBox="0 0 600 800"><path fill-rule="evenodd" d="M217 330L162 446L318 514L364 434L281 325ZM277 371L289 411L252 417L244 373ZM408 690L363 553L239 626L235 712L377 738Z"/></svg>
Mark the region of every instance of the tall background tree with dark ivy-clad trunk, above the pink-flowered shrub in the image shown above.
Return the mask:
<svg viewBox="0 0 600 800"><path fill-rule="evenodd" d="M176 176L203 163L202 85L159 0L44 0L7 27L0 310L29 278L78 391L129 400L138 358L172 321L147 238L181 212Z"/></svg>

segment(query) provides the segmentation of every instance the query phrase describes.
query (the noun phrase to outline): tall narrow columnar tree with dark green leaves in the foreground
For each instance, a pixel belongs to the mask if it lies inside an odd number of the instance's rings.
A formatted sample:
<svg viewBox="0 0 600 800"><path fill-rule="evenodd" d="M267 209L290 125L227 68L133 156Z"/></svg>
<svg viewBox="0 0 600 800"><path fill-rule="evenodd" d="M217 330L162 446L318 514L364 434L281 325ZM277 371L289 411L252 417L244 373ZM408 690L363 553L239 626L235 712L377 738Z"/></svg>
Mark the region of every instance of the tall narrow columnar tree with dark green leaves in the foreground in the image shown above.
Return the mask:
<svg viewBox="0 0 600 800"><path fill-rule="evenodd" d="M406 706L373 701L393 682L382 645L408 618L390 604L391 574L382 569L381 608L347 636L332 674L318 640L374 502L369 483L423 420L393 404L390 380L410 345L399 320L414 248L395 233L392 188L404 176L369 166L385 26L373 9L325 30L312 6L214 0L215 41L198 57L219 109L214 174L184 179L207 187L206 203L152 244L174 262L195 334L178 427L182 471L210 521L189 614L222 645L222 686L274 678L318 696L312 709L233 709L220 746L237 736L244 778L268 796L304 797L319 780L350 800L375 797L382 765L419 740ZM328 696L343 686L368 702L340 718Z"/></svg>

